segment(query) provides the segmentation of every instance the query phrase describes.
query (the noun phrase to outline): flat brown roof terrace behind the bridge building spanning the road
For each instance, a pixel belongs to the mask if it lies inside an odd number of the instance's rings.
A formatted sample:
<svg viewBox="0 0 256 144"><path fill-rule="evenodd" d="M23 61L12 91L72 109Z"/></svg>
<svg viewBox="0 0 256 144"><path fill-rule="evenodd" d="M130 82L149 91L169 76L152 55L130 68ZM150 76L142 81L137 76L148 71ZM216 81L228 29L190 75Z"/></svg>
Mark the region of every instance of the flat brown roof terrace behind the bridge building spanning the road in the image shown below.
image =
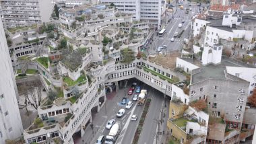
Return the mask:
<svg viewBox="0 0 256 144"><path fill-rule="evenodd" d="M173 52L166 55L156 55L156 57L149 57L150 62L157 63L168 69L174 69L176 67L176 58L181 57L180 52Z"/></svg>

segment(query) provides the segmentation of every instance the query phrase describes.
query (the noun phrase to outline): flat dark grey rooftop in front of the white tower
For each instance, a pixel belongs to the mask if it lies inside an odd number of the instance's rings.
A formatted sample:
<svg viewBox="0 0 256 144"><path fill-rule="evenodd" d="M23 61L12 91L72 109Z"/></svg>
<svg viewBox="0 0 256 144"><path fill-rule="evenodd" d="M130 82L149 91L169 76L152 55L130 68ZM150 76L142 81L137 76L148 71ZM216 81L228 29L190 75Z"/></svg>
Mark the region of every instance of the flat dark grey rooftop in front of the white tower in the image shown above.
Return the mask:
<svg viewBox="0 0 256 144"><path fill-rule="evenodd" d="M199 73L192 74L192 82L191 83L192 84L197 83L197 82L203 81L205 79L226 79L226 77L225 77L226 66L254 67L253 65L248 65L241 61L236 61L234 59L222 57L222 62L218 65L209 64L209 65L201 66L199 68L200 69ZM234 81L243 81L243 79L234 77L232 75L228 75L228 79L233 79Z"/></svg>

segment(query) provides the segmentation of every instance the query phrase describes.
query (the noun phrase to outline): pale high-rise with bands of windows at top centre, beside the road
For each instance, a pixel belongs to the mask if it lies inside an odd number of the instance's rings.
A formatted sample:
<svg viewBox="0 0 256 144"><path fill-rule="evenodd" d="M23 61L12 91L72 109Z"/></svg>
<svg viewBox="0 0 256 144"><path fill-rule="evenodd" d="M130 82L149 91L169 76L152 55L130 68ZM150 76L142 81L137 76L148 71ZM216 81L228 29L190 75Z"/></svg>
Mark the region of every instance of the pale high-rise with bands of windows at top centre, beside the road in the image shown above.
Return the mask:
<svg viewBox="0 0 256 144"><path fill-rule="evenodd" d="M133 15L134 20L147 20L150 27L160 28L161 17L165 11L166 1L154 0L100 0L100 3L110 5L114 3L115 7L122 13Z"/></svg>

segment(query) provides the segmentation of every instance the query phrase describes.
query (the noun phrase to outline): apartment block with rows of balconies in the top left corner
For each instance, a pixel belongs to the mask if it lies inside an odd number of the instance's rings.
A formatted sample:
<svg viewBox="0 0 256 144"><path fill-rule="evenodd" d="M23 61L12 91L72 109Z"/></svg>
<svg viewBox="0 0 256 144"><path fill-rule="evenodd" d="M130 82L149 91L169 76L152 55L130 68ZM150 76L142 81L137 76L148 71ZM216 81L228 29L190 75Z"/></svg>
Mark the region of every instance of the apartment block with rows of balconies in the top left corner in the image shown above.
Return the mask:
<svg viewBox="0 0 256 144"><path fill-rule="evenodd" d="M41 24L38 0L0 1L1 17L5 28Z"/></svg>

